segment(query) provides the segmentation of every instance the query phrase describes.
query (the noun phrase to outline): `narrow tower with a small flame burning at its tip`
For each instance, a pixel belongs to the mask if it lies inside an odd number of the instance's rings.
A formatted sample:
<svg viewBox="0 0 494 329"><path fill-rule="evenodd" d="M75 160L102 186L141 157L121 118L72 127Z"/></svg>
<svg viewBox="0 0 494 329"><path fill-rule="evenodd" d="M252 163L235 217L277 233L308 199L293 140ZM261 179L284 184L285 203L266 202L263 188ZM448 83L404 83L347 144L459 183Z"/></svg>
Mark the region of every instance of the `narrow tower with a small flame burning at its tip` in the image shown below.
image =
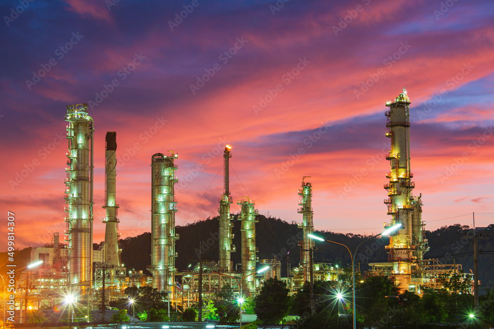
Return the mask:
<svg viewBox="0 0 494 329"><path fill-rule="evenodd" d="M232 146L227 145L223 153L224 158L224 185L225 192L219 200L219 267L222 271L231 271L230 253L235 252L235 245L232 243L232 223L230 218L230 204L232 197L230 196L230 163L232 157L230 149Z"/></svg>

